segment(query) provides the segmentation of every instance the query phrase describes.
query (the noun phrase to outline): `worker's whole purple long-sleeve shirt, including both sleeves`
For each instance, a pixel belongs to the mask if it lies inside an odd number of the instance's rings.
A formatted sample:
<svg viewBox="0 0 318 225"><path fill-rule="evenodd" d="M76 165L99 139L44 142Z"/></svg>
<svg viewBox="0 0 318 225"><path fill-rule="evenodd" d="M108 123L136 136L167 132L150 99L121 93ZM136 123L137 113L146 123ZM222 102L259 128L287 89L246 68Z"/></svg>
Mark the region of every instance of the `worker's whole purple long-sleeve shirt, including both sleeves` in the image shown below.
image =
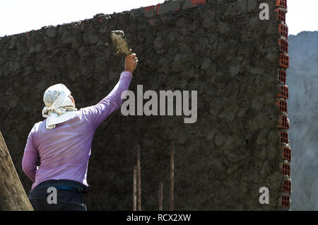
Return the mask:
<svg viewBox="0 0 318 225"><path fill-rule="evenodd" d="M74 180L88 187L88 160L95 130L122 105L121 95L128 90L131 78L129 71L123 71L108 96L96 105L81 108L75 117L54 129L45 128L46 119L33 126L22 159L23 171L33 181L32 190L45 180Z"/></svg>

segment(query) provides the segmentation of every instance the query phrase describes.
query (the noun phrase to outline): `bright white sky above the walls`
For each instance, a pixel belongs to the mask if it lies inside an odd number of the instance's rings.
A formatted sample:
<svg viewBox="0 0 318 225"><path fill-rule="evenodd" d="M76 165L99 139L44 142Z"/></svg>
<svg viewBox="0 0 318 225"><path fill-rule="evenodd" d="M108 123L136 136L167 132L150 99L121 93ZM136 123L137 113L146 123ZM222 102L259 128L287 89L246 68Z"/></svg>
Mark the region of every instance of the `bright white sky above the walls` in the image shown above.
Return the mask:
<svg viewBox="0 0 318 225"><path fill-rule="evenodd" d="M164 0L1 0L0 37L93 18L97 13L112 14ZM286 23L290 35L318 30L318 0L288 0Z"/></svg>

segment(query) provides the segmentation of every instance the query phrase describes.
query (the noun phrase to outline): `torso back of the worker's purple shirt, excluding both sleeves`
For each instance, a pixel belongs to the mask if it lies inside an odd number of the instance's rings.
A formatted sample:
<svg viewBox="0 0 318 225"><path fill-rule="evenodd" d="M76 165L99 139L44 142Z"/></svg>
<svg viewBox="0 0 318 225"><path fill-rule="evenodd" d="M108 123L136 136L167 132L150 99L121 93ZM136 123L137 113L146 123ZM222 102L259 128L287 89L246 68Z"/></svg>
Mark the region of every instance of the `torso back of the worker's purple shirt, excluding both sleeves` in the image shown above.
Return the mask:
<svg viewBox="0 0 318 225"><path fill-rule="evenodd" d="M95 129L86 122L83 110L54 129L45 129L45 121L34 127L33 144L39 152L40 166L32 188L44 180L61 179L76 180L87 186L88 159Z"/></svg>

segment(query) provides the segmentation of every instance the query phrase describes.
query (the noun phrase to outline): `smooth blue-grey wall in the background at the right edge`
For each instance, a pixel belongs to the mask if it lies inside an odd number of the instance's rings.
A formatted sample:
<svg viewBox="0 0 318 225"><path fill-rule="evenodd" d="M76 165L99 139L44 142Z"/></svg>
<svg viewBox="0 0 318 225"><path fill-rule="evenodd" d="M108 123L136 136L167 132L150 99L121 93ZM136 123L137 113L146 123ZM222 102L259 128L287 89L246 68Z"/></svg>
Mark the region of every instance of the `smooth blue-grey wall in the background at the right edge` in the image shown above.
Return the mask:
<svg viewBox="0 0 318 225"><path fill-rule="evenodd" d="M293 210L317 210L318 32L290 35L288 116L293 149Z"/></svg>

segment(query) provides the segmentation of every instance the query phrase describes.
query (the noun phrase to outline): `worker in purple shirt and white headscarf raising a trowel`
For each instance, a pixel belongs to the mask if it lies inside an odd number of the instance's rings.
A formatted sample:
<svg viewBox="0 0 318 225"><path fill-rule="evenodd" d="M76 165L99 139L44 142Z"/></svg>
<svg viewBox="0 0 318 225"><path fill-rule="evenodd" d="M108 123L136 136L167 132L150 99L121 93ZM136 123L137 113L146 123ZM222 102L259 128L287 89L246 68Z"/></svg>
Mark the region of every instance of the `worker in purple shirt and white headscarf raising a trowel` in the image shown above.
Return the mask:
<svg viewBox="0 0 318 225"><path fill-rule="evenodd" d="M23 171L33 182L28 198L34 210L87 211L83 193L95 130L122 105L122 93L128 90L137 63L136 54L126 56L124 71L110 94L80 110L64 84L47 88L42 110L46 119L31 129L22 160Z"/></svg>

